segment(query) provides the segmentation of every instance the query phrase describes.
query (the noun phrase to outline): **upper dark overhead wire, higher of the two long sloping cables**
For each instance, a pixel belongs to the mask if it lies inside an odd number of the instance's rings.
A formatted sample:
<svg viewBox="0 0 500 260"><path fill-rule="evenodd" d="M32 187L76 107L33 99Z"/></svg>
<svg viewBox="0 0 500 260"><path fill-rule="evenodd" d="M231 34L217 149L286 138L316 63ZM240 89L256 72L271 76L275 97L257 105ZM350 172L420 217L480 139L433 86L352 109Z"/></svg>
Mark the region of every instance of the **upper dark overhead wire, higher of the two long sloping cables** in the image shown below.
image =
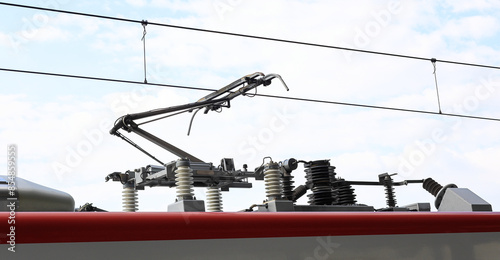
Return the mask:
<svg viewBox="0 0 500 260"><path fill-rule="evenodd" d="M47 12L57 12L57 13L64 13L64 14L71 14L71 15L80 15L80 16L87 16L87 17L93 17L93 18L115 20L115 21L120 21L120 22L139 23L139 24L144 23L144 20L134 20L134 19L128 19L128 18L113 17L113 16L66 11L66 10L38 7L38 6L32 6L32 5L21 5L21 4L4 3L4 2L0 2L0 5L35 9L35 10L41 10L41 11L47 11ZM162 26L162 27L176 28L176 29L183 29L183 30L190 30L190 31L197 31L197 32L203 32L203 33L213 33L213 34L220 34L220 35L227 35L227 36L251 38L251 39L257 39L257 40L275 41L275 42L288 43L288 44L298 44L298 45L305 45L305 46L311 46L311 47L337 49L337 50L352 51L352 52L361 52L361 53L374 54L374 55L384 55L384 56L391 56L391 57L397 57L397 58L422 60L422 61L435 60L435 61L439 61L442 63L449 63L449 64L462 65L462 66L473 66L473 67L481 67L481 68L488 68L488 69L500 69L500 66L493 66L493 65L468 63L468 62L452 61L452 60L440 60L440 59L435 59L435 58L425 58L425 57L404 55L404 54L397 54L397 53L370 51L370 50L364 50L364 49L347 48L347 47L341 47L341 46L318 44L318 43L311 43L311 42L304 42L304 41L279 39L279 38L264 37L264 36L250 35L250 34L225 32L225 31L219 31L219 30L209 30L209 29L202 29L202 28L188 27L188 26L179 26L179 25L166 24L166 23L148 22L147 24L148 25L155 25L155 26Z"/></svg>

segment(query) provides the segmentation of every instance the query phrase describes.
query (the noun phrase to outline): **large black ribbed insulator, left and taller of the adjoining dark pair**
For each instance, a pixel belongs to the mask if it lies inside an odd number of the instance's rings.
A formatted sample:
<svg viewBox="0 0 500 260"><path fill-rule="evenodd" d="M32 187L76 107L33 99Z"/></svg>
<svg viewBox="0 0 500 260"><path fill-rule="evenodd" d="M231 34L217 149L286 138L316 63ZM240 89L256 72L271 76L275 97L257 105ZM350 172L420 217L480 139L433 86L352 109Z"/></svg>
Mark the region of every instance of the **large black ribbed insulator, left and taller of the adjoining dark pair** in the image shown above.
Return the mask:
<svg viewBox="0 0 500 260"><path fill-rule="evenodd" d="M335 193L332 180L335 179L335 167L328 160L312 161L304 164L306 179L312 194L308 195L311 205L332 205Z"/></svg>

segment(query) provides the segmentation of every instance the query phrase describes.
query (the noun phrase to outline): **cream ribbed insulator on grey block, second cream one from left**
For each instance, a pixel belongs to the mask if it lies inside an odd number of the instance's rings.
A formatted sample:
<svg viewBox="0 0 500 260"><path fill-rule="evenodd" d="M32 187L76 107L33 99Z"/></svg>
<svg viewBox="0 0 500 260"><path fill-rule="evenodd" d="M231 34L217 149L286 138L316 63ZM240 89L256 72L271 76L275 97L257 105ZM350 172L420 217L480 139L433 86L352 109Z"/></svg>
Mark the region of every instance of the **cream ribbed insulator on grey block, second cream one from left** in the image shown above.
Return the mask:
<svg viewBox="0 0 500 260"><path fill-rule="evenodd" d="M175 185L177 200L192 200L194 198L193 172L188 159L180 159L176 163Z"/></svg>

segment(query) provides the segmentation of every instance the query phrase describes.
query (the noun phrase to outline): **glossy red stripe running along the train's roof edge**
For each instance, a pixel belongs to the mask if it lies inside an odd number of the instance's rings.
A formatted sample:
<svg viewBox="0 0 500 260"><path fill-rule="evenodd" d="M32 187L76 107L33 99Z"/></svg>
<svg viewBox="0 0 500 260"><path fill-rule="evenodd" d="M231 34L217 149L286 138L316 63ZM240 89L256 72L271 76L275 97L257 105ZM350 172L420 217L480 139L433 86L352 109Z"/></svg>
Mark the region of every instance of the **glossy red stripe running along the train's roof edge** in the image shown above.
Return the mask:
<svg viewBox="0 0 500 260"><path fill-rule="evenodd" d="M14 227L16 243L469 233L500 232L500 213L17 212Z"/></svg>

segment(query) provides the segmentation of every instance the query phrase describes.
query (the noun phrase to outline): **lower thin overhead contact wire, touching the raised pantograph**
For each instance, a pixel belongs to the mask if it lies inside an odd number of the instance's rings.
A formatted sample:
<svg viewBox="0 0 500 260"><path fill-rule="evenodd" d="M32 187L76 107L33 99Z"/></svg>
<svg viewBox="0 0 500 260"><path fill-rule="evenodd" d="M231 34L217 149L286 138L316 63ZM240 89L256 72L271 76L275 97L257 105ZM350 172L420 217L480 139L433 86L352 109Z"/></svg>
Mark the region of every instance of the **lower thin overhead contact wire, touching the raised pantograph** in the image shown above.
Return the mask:
<svg viewBox="0 0 500 260"><path fill-rule="evenodd" d="M54 76L54 77L66 77L66 78L84 79L84 80L96 80L96 81L116 82L116 83L150 85L150 86L159 86L159 87L167 87L167 88L179 88L179 89L200 90L200 91L217 91L217 89L211 89L211 88L200 88L200 87L180 86L180 85L160 84L160 83L143 83L143 82L140 82L140 81L131 81L131 80L122 80L122 79L111 79L111 78L102 78L102 77L89 77L89 76L61 74L61 73L50 73L50 72L31 71L31 70L8 69L8 68L1 68L1 67L0 67L0 71L16 72L16 73L27 73L27 74L35 74L35 75L43 75L43 76ZM406 108L397 108L397 107L376 106L376 105L367 105L367 104L358 104L358 103L348 103L348 102L338 102L338 101L330 101L330 100L320 100L320 99L300 98L300 97L289 97L289 96L278 96L278 95L267 95L267 94L257 94L257 93L255 95L253 95L253 96L256 96L256 97L266 97L266 98L276 98L276 99L285 99L285 100L301 101L301 102L312 102L312 103L322 103L322 104L330 104L330 105L341 105L341 106L351 106L351 107L361 107L361 108L371 108L371 109L383 109L383 110L392 110L392 111L399 111L399 112L419 113L419 114L439 115L439 116L459 117L459 118L468 118L468 119L478 119L478 120L487 120L487 121L497 121L497 122L500 122L500 118L481 117L481 116L472 116L472 115L455 114L455 113L441 113L441 112L433 112L433 111L418 110L418 109L406 109ZM152 121L156 121L156 120L157 119L154 119Z"/></svg>

